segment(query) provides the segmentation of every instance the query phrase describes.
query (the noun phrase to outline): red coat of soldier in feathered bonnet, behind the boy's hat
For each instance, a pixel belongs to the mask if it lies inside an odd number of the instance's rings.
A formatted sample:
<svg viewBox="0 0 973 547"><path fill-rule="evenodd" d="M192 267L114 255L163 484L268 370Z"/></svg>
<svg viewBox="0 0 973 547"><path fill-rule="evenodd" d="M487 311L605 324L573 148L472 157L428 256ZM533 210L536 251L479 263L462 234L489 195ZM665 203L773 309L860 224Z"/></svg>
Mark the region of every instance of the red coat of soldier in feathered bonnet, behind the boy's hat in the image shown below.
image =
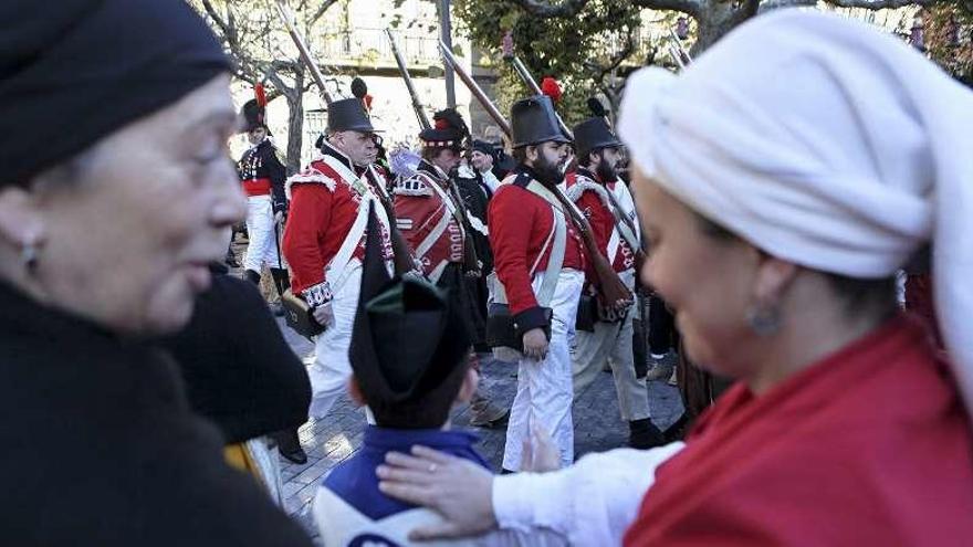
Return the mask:
<svg viewBox="0 0 973 547"><path fill-rule="evenodd" d="M422 273L427 276L435 270L441 271L442 263L463 262L463 244L467 234L450 212L450 207L456 209L457 203L447 189L444 173L422 160L416 175L399 182L395 189L396 225L402 236L409 243L409 248L417 253L417 259L422 264ZM439 191L432 188L439 186ZM450 200L449 207L442 196ZM432 246L421 256L418 249L430 234L446 222L446 230L436 238Z"/></svg>

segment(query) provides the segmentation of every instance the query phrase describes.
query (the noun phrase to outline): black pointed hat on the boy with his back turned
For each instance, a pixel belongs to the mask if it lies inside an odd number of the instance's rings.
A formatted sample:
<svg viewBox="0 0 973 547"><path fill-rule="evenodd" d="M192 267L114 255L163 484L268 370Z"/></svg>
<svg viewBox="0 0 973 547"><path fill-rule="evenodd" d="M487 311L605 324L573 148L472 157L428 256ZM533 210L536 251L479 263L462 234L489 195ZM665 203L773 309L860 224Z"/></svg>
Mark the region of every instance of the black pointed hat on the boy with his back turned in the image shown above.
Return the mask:
<svg viewBox="0 0 973 547"><path fill-rule="evenodd" d="M467 374L470 336L440 288L389 276L379 230L370 204L352 370L378 425L439 428Z"/></svg>

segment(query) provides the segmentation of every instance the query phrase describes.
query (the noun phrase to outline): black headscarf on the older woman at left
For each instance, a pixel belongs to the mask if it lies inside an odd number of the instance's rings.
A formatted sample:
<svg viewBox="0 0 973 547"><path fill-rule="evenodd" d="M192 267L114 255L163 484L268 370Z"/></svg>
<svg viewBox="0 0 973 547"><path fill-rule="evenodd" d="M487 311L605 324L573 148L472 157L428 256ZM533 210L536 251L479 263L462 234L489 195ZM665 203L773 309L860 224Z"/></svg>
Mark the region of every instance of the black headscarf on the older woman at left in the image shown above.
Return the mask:
<svg viewBox="0 0 973 547"><path fill-rule="evenodd" d="M10 0L6 8L0 187L24 185L230 69L182 0Z"/></svg>

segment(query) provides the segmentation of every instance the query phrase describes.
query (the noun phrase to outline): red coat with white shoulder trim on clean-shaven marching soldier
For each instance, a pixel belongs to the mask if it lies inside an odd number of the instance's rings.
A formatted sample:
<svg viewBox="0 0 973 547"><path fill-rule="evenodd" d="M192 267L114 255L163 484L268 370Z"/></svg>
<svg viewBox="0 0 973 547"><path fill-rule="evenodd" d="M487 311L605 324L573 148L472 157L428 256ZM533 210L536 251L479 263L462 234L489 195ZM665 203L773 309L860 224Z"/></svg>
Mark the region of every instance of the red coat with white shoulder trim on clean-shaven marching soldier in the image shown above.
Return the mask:
<svg viewBox="0 0 973 547"><path fill-rule="evenodd" d="M360 175L360 169L354 169L352 161L341 151L325 144L324 152ZM363 196L372 190L365 179L346 180L322 159L312 161L299 175L291 177L287 189L291 212L282 250L291 266L291 285L310 304L317 305L332 298L329 282L336 280L325 280L325 267L352 230ZM381 207L376 207L375 213L385 218ZM390 260L393 254L388 230L383 230L381 239L385 257ZM353 256L364 259L364 236Z"/></svg>

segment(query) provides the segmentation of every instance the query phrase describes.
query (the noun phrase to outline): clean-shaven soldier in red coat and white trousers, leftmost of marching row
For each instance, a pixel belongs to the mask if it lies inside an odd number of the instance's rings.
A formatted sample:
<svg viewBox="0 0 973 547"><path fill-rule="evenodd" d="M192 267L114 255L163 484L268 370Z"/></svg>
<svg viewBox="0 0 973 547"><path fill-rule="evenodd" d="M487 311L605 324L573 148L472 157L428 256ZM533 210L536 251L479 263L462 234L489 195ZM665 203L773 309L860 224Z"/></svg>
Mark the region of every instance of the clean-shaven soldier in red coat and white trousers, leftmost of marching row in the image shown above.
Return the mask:
<svg viewBox="0 0 973 547"><path fill-rule="evenodd" d="M369 204L381 228L384 256L387 261L393 256L388 215L365 176L375 157L372 123L357 98L332 103L327 122L321 156L287 179L291 212L283 241L293 291L325 327L308 368L313 390L308 413L314 418L331 410L351 376L348 345Z"/></svg>

